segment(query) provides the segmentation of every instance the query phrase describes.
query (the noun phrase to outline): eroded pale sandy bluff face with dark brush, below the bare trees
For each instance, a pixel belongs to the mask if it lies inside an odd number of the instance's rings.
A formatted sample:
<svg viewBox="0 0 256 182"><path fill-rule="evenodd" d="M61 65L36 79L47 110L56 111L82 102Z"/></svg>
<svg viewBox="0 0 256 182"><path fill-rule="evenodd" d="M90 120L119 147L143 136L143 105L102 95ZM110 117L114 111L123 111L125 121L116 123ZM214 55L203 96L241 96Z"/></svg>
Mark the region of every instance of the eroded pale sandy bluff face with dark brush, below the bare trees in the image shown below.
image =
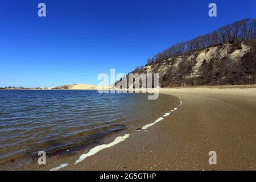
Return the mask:
<svg viewBox="0 0 256 182"><path fill-rule="evenodd" d="M224 43L146 64L131 73L159 73L160 86L255 84L255 40Z"/></svg>

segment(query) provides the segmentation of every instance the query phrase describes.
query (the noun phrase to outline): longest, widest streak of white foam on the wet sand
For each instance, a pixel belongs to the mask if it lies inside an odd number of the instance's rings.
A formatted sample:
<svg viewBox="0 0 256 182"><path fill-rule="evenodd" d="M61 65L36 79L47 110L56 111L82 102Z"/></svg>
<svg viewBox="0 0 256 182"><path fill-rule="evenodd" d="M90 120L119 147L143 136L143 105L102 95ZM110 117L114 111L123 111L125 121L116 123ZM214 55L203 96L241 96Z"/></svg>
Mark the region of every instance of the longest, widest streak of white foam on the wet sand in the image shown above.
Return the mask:
<svg viewBox="0 0 256 182"><path fill-rule="evenodd" d="M84 160L84 159L88 158L89 156L92 156L92 155L94 155L94 154L100 152L100 151L103 150L104 148L112 147L112 146L114 146L115 144L118 144L118 143L124 141L124 140L125 140L126 138L128 138L129 136L130 136L130 134L125 134L123 137L117 137L117 138L115 138L115 140L114 140L113 142L109 143L109 144L102 144L102 145L100 145L100 146L96 146L96 147L92 148L88 153L82 154L82 155L80 156L80 158L76 160L76 163L75 163L75 164L82 162L82 160Z"/></svg>

